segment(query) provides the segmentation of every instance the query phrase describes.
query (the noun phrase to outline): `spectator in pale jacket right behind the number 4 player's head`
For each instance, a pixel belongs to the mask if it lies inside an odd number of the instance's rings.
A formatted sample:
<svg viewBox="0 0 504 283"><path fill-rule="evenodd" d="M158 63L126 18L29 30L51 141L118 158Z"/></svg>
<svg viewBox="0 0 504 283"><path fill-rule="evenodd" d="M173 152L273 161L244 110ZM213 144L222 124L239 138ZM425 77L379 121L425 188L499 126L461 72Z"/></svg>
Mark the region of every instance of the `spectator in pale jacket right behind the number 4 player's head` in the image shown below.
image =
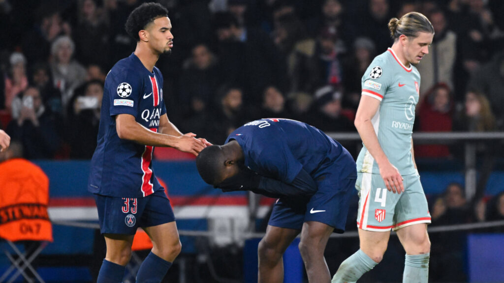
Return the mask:
<svg viewBox="0 0 504 283"><path fill-rule="evenodd" d="M457 55L457 35L448 29L443 10L432 11L428 17L436 33L429 54L416 67L422 78L420 99L437 83L445 83L453 89L453 72ZM419 107L420 105L417 105Z"/></svg>

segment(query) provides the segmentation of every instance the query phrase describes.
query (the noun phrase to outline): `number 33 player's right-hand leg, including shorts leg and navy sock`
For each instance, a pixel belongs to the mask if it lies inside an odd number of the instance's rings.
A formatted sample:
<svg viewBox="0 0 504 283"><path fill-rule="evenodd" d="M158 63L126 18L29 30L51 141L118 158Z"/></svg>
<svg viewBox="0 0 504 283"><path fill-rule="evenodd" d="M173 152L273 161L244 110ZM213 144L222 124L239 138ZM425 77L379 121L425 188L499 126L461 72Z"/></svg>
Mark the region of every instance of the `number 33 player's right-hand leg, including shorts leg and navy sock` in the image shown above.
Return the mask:
<svg viewBox="0 0 504 283"><path fill-rule="evenodd" d="M170 201L164 191L148 196L142 216L144 231L152 240L152 250L140 265L137 282L161 282L178 256L182 245Z"/></svg>

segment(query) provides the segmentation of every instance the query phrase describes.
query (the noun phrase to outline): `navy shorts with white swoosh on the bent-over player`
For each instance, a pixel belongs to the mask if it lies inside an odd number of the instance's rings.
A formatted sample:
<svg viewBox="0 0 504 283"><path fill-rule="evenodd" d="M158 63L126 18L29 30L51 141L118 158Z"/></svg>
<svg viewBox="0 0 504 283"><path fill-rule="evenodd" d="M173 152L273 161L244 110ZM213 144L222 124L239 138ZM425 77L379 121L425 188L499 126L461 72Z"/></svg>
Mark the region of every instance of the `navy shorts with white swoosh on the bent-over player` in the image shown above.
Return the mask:
<svg viewBox="0 0 504 283"><path fill-rule="evenodd" d="M318 190L311 198L279 198L268 225L301 230L304 222L316 221L334 227L336 233L345 232L357 173L341 177L337 167L329 166L322 174L317 174L321 176L317 181Z"/></svg>

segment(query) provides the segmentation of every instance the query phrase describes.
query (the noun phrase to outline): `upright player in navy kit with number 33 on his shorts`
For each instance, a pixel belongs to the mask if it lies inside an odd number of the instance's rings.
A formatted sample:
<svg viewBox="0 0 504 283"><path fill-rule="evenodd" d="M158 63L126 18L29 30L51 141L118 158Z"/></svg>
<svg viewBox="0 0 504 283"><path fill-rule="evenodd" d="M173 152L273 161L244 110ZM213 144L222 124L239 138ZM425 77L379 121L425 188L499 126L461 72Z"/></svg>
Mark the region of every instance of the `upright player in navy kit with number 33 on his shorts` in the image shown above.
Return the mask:
<svg viewBox="0 0 504 283"><path fill-rule="evenodd" d="M166 115L163 77L155 64L173 47L168 11L160 4L143 4L130 14L125 29L137 47L105 80L88 184L107 246L98 283L122 281L138 227L147 232L153 248L137 282L162 280L181 245L170 201L152 168L154 147L198 155L210 145L193 133L182 134Z"/></svg>

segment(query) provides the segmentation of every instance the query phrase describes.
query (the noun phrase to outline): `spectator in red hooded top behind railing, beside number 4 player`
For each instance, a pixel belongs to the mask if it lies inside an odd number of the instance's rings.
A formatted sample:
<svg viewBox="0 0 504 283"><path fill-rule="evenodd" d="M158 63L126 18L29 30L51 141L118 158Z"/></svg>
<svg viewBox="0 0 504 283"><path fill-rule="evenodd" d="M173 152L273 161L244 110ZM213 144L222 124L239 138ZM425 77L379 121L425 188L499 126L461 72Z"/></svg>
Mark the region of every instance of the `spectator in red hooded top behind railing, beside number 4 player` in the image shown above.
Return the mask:
<svg viewBox="0 0 504 283"><path fill-rule="evenodd" d="M438 83L425 94L424 100L418 110L418 130L452 131L453 103L450 87L447 84ZM449 156L450 149L446 145L415 145L415 157L447 158Z"/></svg>

